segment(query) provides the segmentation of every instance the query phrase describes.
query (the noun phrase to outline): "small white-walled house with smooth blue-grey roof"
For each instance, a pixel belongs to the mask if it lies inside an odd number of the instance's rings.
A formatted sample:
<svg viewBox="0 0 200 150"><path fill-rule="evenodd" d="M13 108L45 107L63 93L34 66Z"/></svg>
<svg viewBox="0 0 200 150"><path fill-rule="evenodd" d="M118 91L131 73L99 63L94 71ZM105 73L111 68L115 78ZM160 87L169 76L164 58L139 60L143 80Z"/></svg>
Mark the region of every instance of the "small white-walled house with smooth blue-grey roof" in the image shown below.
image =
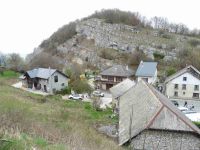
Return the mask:
<svg viewBox="0 0 200 150"><path fill-rule="evenodd" d="M141 61L135 76L137 81L144 80L147 83L154 84L157 79L157 62Z"/></svg>

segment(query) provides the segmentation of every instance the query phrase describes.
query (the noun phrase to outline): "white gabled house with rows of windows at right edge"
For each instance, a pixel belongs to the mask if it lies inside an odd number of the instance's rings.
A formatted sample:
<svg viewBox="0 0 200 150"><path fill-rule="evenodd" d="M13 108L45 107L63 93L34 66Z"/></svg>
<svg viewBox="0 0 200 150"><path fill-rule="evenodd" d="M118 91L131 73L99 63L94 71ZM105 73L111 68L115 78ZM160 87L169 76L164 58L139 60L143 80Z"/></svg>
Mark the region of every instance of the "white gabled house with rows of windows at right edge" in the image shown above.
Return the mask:
<svg viewBox="0 0 200 150"><path fill-rule="evenodd" d="M199 99L200 72L187 66L165 80L165 95L169 98Z"/></svg>

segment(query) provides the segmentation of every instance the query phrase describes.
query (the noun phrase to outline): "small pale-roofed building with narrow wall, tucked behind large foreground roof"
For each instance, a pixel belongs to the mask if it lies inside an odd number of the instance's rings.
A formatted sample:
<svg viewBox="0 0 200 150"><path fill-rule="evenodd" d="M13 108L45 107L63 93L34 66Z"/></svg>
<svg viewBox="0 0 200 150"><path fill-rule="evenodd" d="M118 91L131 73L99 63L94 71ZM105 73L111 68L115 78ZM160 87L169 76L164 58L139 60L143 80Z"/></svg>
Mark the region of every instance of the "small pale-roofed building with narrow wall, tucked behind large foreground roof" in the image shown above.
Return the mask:
<svg viewBox="0 0 200 150"><path fill-rule="evenodd" d="M135 85L135 81L130 79L125 79L124 81L118 83L117 85L110 88L110 92L112 94L112 104L114 113L118 114L119 112L119 98L126 91L128 91L131 87Z"/></svg>

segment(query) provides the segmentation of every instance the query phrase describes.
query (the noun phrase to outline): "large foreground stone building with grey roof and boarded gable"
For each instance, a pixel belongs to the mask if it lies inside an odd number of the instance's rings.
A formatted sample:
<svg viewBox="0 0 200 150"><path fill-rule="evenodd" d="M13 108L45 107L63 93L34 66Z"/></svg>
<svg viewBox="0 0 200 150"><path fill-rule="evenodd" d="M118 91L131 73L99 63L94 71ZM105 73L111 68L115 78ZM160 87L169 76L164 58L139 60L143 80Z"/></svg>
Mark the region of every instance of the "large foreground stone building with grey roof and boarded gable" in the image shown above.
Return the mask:
<svg viewBox="0 0 200 150"><path fill-rule="evenodd" d="M118 140L133 150L200 150L200 129L141 80L119 97Z"/></svg>

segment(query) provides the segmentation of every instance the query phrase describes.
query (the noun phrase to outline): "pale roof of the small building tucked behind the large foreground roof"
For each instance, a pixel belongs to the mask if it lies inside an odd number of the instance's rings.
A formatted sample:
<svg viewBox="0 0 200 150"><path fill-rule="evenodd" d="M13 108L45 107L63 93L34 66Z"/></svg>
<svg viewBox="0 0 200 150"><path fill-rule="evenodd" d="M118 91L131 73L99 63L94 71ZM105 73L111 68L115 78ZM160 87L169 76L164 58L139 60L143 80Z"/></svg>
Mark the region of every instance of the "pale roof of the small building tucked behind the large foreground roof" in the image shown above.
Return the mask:
<svg viewBox="0 0 200 150"><path fill-rule="evenodd" d="M127 78L124 81L110 88L110 92L112 93L113 98L117 98L123 95L126 91L128 91L134 85L135 85L135 82Z"/></svg>

